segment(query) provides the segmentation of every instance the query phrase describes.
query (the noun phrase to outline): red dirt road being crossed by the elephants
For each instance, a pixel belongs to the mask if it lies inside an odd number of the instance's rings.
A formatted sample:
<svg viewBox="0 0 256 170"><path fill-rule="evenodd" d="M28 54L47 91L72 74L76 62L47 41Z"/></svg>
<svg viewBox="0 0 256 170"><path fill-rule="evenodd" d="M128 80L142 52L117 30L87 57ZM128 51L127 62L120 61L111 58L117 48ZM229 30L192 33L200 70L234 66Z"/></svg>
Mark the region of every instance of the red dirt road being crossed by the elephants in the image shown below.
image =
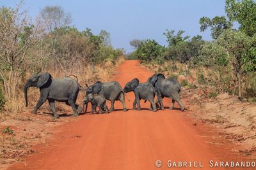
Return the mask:
<svg viewBox="0 0 256 170"><path fill-rule="evenodd" d="M127 60L113 80L124 87L132 78L144 82L151 75L137 60ZM211 128L200 123L191 125L193 120L186 115L193 112L152 112L148 111L150 104L143 101L145 110L134 111L134 94L127 95L131 100L125 99L130 109L127 112L117 101L118 111L72 118L72 122L52 129L53 138L46 145L36 146L38 153L9 169L167 169L168 160L197 162L197 166L201 162L204 166L184 169L215 169L209 167L210 160L243 160L243 155L232 152L236 146L220 139ZM164 105L169 107L170 99L165 99ZM163 165L156 167L156 160Z"/></svg>

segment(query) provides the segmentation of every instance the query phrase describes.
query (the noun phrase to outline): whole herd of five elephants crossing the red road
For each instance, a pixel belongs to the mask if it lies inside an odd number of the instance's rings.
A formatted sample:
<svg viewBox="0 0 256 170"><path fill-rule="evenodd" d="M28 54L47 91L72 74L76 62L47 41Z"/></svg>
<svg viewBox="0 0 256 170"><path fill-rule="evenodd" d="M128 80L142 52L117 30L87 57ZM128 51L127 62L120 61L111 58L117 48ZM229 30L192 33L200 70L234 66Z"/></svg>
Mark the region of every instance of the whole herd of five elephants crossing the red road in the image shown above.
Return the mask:
<svg viewBox="0 0 256 170"><path fill-rule="evenodd" d="M150 110L152 111L157 111L158 107L160 107L161 110L164 110L164 97L172 99L172 104L169 109L173 109L175 101L179 103L182 111L185 109L180 101L179 92L181 91L181 87L179 82L175 78L165 78L161 73L150 76L145 83L140 83L138 78L134 78L126 83L124 89L122 89L120 83L117 81L97 81L90 86L86 84L87 88L83 100L83 108L76 104L77 95L79 90L81 90L81 86L73 78L52 78L49 73L34 74L24 85L26 106L28 106L29 87L37 87L40 89L40 98L31 113L36 113L40 106L47 100L54 118L59 117L56 113L54 101L65 102L68 106L71 106L74 112L74 117L78 116L78 113L84 111L84 105L86 106L86 113L88 103L92 104L92 113L96 111L97 107L99 108L100 113L103 113L104 111L106 113L113 111L115 101L120 101L123 104L123 111L127 111L125 106L125 94L131 91L134 92L135 96L132 108L134 110L136 108L137 110L141 110L141 99L145 100L145 102L150 102ZM156 102L154 101L155 96L157 96ZM107 100L111 103L109 110L106 106Z"/></svg>

